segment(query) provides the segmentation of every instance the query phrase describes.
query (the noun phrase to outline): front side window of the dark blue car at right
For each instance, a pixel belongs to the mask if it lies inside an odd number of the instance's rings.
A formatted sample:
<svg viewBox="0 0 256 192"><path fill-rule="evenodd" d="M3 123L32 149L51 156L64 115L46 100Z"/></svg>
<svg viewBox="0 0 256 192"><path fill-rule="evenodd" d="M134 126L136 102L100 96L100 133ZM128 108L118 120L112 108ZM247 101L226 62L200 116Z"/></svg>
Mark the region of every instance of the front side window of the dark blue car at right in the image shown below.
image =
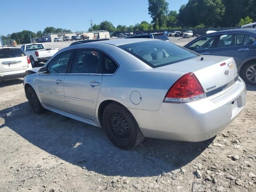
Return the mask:
<svg viewBox="0 0 256 192"><path fill-rule="evenodd" d="M213 41L215 36L207 36L200 38L198 41L194 42L190 46L188 46L188 49L190 50L204 50L204 49L210 49L212 48Z"/></svg>

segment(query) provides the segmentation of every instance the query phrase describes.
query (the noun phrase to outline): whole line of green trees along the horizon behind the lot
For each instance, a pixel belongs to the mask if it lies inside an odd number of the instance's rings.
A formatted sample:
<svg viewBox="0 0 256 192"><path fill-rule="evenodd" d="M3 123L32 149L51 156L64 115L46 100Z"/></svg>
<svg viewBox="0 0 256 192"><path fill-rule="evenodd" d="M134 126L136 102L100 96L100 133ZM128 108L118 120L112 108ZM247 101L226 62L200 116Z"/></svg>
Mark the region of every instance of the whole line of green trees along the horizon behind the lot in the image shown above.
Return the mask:
<svg viewBox="0 0 256 192"><path fill-rule="evenodd" d="M142 21L134 25L119 24L114 26L110 21L94 24L88 31L145 31L181 28L218 28L236 27L256 21L256 0L188 0L180 7L179 12L169 10L166 0L148 0L148 14L152 21ZM11 38L18 43L28 43L30 38L42 37L48 33L71 33L71 30L46 27L36 33L23 30L2 36Z"/></svg>

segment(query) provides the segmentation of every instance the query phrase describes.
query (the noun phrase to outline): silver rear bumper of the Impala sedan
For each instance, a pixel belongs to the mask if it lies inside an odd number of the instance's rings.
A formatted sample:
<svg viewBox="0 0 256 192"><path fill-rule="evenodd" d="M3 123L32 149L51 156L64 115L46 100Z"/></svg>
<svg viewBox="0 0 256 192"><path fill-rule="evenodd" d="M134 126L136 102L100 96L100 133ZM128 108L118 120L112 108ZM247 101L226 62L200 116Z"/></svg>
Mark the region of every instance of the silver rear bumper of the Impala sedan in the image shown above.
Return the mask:
<svg viewBox="0 0 256 192"><path fill-rule="evenodd" d="M226 128L245 102L246 86L239 77L230 90L217 98L186 104L162 103L158 111L129 110L146 137L199 142Z"/></svg>

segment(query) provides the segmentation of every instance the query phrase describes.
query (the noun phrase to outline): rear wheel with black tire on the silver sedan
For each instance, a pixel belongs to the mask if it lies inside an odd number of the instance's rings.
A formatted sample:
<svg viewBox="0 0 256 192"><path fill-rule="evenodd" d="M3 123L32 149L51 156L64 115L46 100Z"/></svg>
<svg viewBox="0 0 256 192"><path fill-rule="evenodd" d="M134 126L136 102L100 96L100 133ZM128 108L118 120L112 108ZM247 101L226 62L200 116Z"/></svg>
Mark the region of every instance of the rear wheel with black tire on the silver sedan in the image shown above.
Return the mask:
<svg viewBox="0 0 256 192"><path fill-rule="evenodd" d="M118 148L131 150L144 140L130 111L116 102L106 106L102 122L108 138Z"/></svg>

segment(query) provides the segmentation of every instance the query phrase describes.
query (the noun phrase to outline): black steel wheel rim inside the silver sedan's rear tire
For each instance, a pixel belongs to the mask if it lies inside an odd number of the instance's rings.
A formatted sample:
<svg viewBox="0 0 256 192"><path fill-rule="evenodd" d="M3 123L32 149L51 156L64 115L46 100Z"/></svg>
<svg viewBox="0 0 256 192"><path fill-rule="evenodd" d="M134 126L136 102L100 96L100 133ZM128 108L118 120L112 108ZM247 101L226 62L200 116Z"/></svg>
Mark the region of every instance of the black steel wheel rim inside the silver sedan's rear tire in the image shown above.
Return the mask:
<svg viewBox="0 0 256 192"><path fill-rule="evenodd" d="M130 135L128 122L120 113L110 115L110 128L118 140L126 140Z"/></svg>

